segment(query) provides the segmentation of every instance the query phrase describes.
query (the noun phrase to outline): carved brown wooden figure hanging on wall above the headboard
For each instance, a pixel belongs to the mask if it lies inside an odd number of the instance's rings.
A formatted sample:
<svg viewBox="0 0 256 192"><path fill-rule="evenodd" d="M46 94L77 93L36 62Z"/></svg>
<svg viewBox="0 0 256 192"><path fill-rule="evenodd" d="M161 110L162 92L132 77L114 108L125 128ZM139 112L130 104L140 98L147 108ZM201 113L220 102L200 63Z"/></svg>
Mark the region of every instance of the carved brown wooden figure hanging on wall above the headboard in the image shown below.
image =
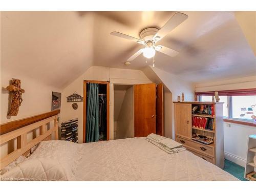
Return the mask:
<svg viewBox="0 0 256 192"><path fill-rule="evenodd" d="M18 108L22 104L22 94L25 90L20 88L20 83L20 79L12 79L11 85L6 88L12 93L11 108L8 115L16 116Z"/></svg>

